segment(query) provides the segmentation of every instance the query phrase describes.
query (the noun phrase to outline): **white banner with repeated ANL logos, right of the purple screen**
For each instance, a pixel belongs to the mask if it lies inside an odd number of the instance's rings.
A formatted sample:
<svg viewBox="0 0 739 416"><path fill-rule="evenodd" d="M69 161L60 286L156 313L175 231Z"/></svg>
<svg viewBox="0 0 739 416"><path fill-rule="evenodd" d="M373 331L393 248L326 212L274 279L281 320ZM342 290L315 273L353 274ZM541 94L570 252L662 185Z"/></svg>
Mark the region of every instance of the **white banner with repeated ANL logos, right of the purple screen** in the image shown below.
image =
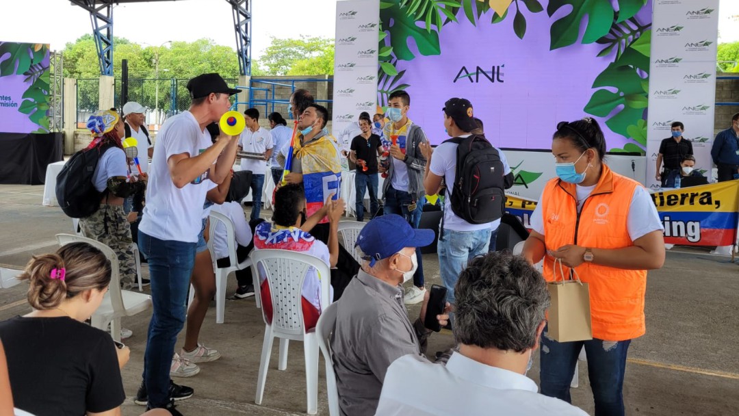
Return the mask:
<svg viewBox="0 0 739 416"><path fill-rule="evenodd" d="M711 146L716 101L718 0L655 0L653 9L647 185L655 178L659 146L671 124L685 126L695 168L711 177Z"/></svg>

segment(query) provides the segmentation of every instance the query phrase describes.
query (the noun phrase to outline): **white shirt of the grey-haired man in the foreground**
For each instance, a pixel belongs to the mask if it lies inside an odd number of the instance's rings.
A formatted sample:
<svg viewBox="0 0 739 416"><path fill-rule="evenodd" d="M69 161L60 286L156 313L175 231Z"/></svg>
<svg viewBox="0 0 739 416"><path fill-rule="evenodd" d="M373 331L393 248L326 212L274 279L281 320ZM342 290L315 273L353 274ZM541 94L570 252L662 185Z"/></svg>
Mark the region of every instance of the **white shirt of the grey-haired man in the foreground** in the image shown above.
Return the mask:
<svg viewBox="0 0 739 416"><path fill-rule="evenodd" d="M446 366L405 355L387 369L375 415L588 415L537 390L537 383L525 375L479 363L459 352Z"/></svg>

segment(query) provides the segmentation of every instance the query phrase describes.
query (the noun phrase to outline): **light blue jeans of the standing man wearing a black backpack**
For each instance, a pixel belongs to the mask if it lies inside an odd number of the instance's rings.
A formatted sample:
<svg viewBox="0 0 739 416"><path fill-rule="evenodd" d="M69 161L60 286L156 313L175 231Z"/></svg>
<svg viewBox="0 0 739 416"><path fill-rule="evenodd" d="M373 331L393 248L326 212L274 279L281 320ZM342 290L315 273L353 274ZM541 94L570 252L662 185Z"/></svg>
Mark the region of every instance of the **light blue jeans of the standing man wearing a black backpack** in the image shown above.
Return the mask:
<svg viewBox="0 0 739 416"><path fill-rule="evenodd" d="M445 228L442 231L436 249L439 253L441 282L446 286L446 301L450 304L454 304L454 285L457 284L460 272L471 259L487 253L489 244L490 228L477 231L452 231Z"/></svg>

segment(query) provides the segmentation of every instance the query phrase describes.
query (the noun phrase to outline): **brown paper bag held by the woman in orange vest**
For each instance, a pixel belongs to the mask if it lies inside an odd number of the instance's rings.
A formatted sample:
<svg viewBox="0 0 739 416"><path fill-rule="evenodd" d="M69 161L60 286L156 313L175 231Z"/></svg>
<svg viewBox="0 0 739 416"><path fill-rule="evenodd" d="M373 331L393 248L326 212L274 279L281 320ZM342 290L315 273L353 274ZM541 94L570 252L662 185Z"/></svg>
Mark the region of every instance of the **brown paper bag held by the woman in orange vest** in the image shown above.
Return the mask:
<svg viewBox="0 0 739 416"><path fill-rule="evenodd" d="M576 270L572 270L576 279L568 280L562 268L562 260L555 259L554 282L547 284L551 296L547 333L558 342L593 339L593 325L590 322L590 288L587 283L580 282ZM558 280L558 275L562 280Z"/></svg>

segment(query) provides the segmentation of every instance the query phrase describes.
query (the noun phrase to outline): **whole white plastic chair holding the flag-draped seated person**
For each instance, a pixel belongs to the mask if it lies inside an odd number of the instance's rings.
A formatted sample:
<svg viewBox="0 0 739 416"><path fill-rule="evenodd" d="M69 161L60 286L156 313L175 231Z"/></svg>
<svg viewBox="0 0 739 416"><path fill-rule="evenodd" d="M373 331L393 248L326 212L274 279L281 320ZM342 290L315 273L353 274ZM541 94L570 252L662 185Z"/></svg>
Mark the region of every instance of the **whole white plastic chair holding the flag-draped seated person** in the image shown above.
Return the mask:
<svg viewBox="0 0 739 416"><path fill-rule="evenodd" d="M307 384L307 413L316 415L318 412L318 383L319 383L319 343L315 330L306 331L303 324L302 287L305 276L311 267L315 268L321 279L321 307L331 303L330 280L331 274L326 263L321 259L304 253L290 250L253 250L250 254L252 261L252 276L254 276L255 295L262 296L259 290L259 265L266 274L270 285L272 299L272 323L269 324L265 310L262 308L262 318L265 321L265 340L262 344L262 358L259 361L259 378L256 381L256 404L262 404L267 381L267 369L270 364L272 342L280 338L279 364L277 369L287 369L288 341L303 341L305 353L305 378Z"/></svg>

